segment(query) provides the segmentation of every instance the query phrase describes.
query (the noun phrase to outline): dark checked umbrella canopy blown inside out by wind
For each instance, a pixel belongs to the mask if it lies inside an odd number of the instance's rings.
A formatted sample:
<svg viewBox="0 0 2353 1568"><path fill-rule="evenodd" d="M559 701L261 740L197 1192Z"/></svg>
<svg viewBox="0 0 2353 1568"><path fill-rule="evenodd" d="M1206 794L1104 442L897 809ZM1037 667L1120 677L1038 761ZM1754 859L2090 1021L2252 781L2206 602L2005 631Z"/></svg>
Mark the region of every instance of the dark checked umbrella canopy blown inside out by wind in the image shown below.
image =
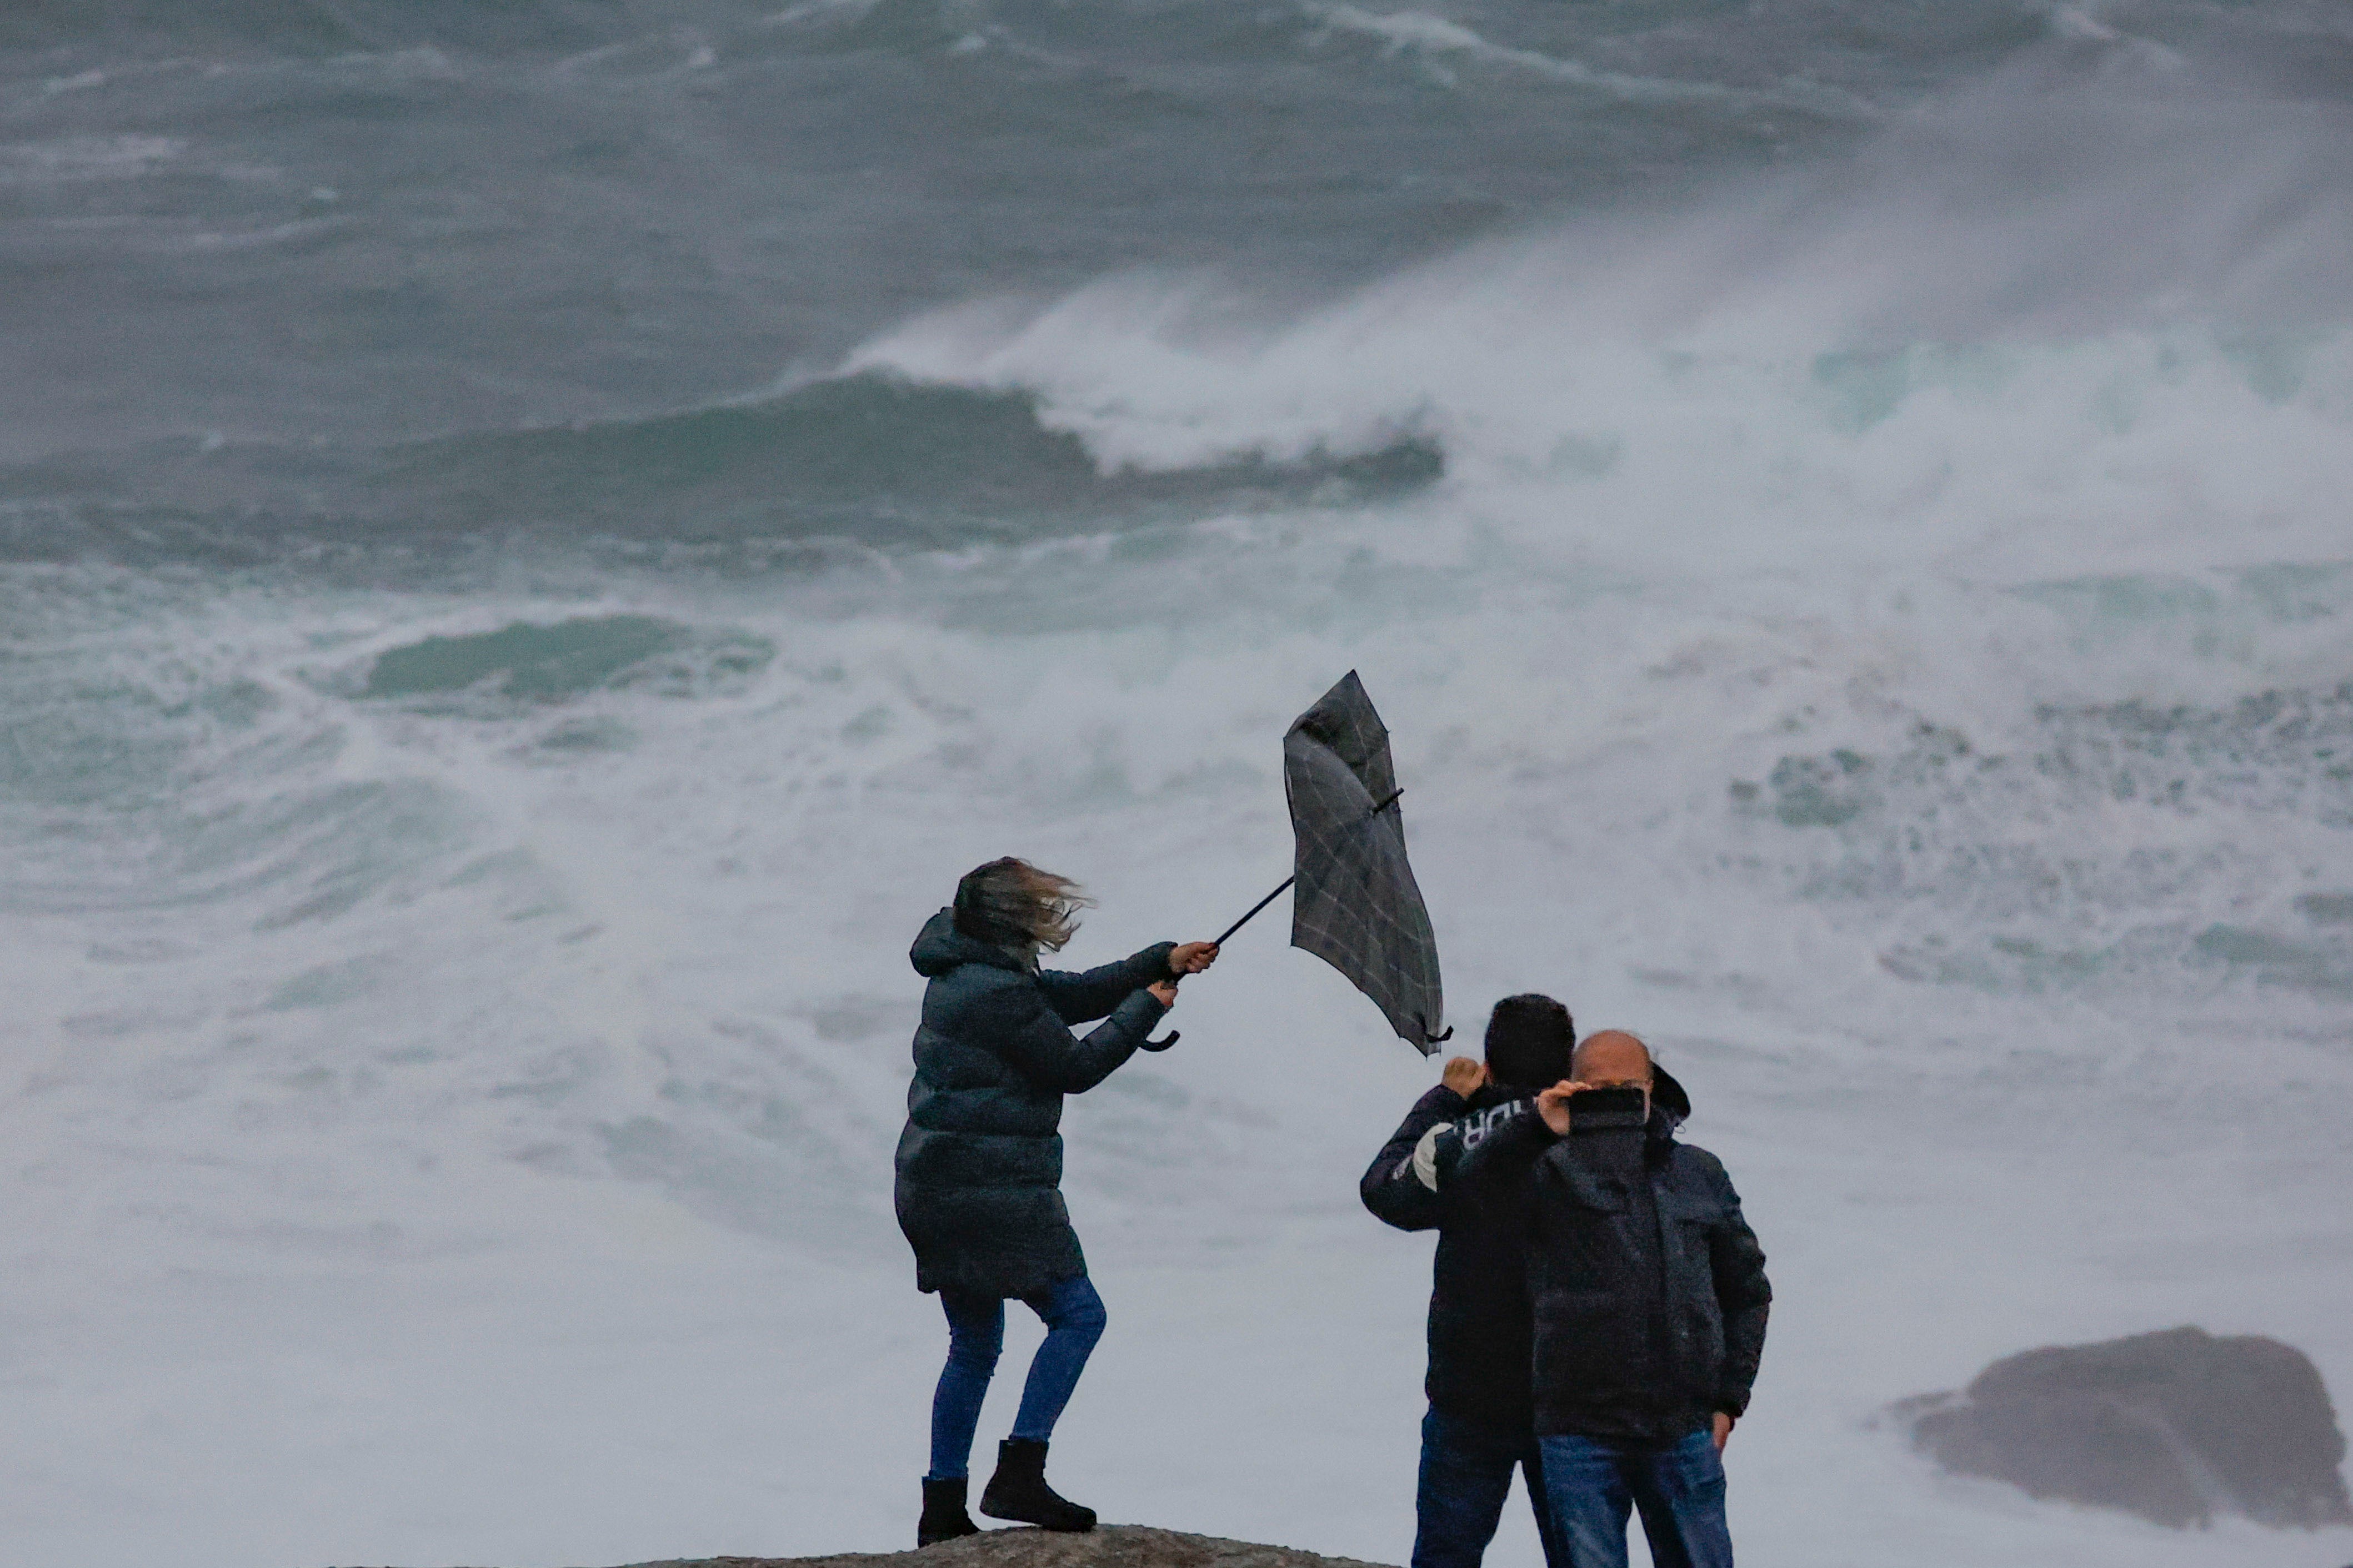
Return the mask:
<svg viewBox="0 0 2353 1568"><path fill-rule="evenodd" d="M1348 670L1282 736L1297 884L1292 947L1306 947L1372 997L1409 1046L1431 1056L1452 1030L1438 990L1438 938L1405 858L1388 726Z"/></svg>

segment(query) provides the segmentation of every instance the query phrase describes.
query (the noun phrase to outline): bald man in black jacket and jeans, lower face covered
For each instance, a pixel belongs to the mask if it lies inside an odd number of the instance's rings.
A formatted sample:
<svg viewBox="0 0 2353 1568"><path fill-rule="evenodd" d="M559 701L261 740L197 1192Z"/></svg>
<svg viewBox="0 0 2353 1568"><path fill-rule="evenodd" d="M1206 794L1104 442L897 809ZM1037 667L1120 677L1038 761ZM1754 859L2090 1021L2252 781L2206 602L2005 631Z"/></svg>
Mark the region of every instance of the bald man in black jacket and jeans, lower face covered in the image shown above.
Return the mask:
<svg viewBox="0 0 2353 1568"><path fill-rule="evenodd" d="M1725 1166L1675 1138L1657 1084L1640 1039L1588 1034L1454 1173L1459 1201L1527 1213L1537 1450L1572 1568L1626 1568L1633 1509L1659 1568L1732 1568L1722 1448L1772 1286Z"/></svg>

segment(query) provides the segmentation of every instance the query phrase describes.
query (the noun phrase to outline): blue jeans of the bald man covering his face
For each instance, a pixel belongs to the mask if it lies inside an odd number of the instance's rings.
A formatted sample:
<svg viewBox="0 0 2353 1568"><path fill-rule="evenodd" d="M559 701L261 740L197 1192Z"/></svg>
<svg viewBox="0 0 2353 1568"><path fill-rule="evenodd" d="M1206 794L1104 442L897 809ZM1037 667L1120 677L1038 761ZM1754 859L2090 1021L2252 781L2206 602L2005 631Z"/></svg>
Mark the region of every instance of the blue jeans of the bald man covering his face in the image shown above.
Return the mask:
<svg viewBox="0 0 2353 1568"><path fill-rule="evenodd" d="M1626 1512L1642 1509L1659 1568L1732 1568L1725 1462L1694 1432L1666 1448L1619 1448L1591 1436L1546 1436L1544 1490L1567 1544L1567 1568L1626 1568Z"/></svg>

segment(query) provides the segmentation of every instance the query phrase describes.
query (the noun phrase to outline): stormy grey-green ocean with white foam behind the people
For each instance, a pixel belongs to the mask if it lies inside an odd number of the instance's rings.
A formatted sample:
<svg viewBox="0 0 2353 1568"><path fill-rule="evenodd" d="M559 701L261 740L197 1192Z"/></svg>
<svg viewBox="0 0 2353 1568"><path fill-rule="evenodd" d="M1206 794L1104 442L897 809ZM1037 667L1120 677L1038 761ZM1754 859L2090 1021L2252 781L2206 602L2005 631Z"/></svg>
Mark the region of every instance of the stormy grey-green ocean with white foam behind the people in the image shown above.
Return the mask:
<svg viewBox="0 0 2353 1568"><path fill-rule="evenodd" d="M906 943L1217 931L1351 668L1461 1039L1741 1185L1744 1561L2353 1559L1875 1420L2353 1399L2341 5L16 7L0 259L7 1563L911 1544ZM1071 1105L1054 1467L1402 1561L1435 1067L1282 910Z"/></svg>

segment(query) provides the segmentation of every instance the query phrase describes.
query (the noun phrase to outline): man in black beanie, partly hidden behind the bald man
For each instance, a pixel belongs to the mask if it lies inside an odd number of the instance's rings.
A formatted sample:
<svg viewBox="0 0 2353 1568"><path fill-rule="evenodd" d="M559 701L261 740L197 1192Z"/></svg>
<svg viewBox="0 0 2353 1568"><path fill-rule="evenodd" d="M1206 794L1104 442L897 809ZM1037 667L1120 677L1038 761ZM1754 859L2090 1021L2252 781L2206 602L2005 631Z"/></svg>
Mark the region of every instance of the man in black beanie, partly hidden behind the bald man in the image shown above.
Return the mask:
<svg viewBox="0 0 2353 1568"><path fill-rule="evenodd" d="M1544 1556L1562 1568L1529 1396L1522 1225L1504 1204L1452 1204L1449 1173L1464 1150L1518 1114L1569 1067L1569 1009L1551 997L1504 997L1487 1018L1487 1060L1447 1063L1445 1081L1421 1095L1365 1171L1365 1208L1398 1229L1435 1229L1431 1269L1431 1396L1421 1418L1421 1476L1414 1495L1412 1568L1478 1568L1494 1540L1511 1472L1527 1476L1527 1500Z"/></svg>

